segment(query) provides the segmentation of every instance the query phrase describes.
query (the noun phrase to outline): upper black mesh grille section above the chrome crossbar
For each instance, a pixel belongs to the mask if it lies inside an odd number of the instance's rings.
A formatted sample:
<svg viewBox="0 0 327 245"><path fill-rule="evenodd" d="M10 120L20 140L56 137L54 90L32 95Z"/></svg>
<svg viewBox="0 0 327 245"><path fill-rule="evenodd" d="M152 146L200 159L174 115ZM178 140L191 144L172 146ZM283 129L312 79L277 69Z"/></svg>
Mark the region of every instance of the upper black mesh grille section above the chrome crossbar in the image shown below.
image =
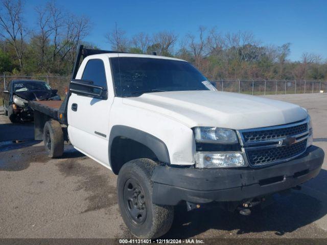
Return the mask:
<svg viewBox="0 0 327 245"><path fill-rule="evenodd" d="M267 130L256 130L256 131L245 131L242 132L244 143L252 143L258 141L266 141L279 139L291 135L298 135L308 131L307 122L296 125L293 127L286 128L276 128L276 129L267 129Z"/></svg>

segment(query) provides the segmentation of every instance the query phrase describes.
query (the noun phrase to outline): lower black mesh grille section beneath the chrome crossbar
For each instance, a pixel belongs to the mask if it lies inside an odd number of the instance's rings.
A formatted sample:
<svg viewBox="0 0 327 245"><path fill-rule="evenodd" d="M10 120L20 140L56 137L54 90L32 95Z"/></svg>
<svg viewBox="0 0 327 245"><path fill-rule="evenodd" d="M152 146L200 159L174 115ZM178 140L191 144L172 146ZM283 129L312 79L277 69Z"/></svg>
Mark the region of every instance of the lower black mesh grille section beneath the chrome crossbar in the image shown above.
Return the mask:
<svg viewBox="0 0 327 245"><path fill-rule="evenodd" d="M248 150L246 155L250 165L261 166L295 157L306 150L307 139L290 146L279 146L261 150Z"/></svg>

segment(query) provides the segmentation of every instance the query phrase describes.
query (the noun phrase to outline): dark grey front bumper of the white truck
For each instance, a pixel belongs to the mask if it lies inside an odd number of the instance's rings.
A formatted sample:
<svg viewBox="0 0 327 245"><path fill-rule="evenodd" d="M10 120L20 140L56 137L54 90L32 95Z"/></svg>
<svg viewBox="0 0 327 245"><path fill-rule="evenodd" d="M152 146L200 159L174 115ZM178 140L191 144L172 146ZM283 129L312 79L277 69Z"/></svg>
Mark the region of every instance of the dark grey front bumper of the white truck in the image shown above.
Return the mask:
<svg viewBox="0 0 327 245"><path fill-rule="evenodd" d="M157 205L242 201L283 191L318 175L324 152L310 146L300 157L263 168L199 169L156 166L152 202Z"/></svg>

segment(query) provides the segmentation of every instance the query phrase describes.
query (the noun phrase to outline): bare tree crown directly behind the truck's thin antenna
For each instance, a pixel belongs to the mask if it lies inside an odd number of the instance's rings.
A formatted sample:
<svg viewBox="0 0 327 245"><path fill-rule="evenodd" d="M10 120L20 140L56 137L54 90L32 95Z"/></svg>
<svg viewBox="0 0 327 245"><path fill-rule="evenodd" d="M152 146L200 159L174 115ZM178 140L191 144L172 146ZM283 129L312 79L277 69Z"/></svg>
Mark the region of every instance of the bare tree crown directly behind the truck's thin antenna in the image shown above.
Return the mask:
<svg viewBox="0 0 327 245"><path fill-rule="evenodd" d="M112 50L119 52L127 52L129 47L129 40L125 36L126 32L115 27L111 32L107 33L105 37L110 43Z"/></svg>

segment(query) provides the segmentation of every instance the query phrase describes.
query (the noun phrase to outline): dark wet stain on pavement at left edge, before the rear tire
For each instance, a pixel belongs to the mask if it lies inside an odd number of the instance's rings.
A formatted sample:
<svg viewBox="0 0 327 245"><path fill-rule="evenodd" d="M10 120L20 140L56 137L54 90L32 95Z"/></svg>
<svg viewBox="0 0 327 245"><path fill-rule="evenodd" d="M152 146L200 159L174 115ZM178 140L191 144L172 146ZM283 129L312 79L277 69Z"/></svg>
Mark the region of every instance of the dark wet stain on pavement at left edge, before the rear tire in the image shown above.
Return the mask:
<svg viewBox="0 0 327 245"><path fill-rule="evenodd" d="M41 145L0 152L0 171L20 171L28 168L31 162L44 163L49 160Z"/></svg>

